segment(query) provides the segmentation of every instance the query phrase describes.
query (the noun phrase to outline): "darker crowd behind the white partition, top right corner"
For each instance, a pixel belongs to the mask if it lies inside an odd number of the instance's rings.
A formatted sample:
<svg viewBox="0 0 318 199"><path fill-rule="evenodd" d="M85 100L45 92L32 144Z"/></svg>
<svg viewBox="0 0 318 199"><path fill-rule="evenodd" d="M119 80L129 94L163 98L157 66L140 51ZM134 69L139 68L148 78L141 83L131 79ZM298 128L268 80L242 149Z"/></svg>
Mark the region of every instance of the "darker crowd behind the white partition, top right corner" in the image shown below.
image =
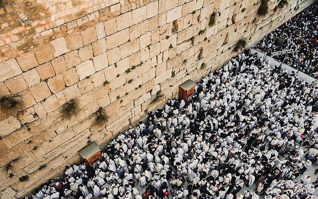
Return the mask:
<svg viewBox="0 0 318 199"><path fill-rule="evenodd" d="M266 35L255 48L271 56L273 52L293 50L273 56L287 65L318 78L318 4L289 19L275 31ZM277 38L284 39L281 44Z"/></svg>

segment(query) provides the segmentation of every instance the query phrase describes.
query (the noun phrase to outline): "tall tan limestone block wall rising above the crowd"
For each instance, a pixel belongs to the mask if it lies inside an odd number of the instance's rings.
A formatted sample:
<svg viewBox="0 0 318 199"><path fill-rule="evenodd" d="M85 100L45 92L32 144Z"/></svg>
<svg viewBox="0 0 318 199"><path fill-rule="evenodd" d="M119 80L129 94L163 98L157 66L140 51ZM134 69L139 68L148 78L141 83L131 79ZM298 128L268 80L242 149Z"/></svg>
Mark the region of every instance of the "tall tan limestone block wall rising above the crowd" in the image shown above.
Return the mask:
<svg viewBox="0 0 318 199"><path fill-rule="evenodd" d="M256 0L3 0L0 95L21 95L24 108L0 115L0 197L63 173L89 141L104 145L229 60L239 38L252 46L311 3L279 10L272 0L260 17ZM151 104L158 90L165 97ZM80 112L67 120L60 108L72 98ZM102 127L92 125L99 106L110 116Z"/></svg>

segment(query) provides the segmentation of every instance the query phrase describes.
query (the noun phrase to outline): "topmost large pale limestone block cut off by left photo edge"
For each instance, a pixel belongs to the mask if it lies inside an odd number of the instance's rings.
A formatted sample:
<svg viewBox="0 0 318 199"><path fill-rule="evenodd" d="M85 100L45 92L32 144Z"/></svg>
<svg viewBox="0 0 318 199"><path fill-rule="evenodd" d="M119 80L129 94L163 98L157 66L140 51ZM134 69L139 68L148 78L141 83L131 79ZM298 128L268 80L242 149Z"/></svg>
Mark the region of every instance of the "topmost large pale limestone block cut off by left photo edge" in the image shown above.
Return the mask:
<svg viewBox="0 0 318 199"><path fill-rule="evenodd" d="M0 63L0 82L22 73L17 60L11 59Z"/></svg>

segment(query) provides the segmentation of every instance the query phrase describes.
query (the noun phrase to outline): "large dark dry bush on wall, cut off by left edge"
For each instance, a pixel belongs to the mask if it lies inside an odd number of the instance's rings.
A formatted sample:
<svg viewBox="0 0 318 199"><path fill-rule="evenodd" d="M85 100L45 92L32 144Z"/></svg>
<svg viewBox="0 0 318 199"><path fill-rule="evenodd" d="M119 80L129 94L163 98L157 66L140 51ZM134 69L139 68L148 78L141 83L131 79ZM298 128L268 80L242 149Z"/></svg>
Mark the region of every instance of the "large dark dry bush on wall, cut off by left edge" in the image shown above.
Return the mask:
<svg viewBox="0 0 318 199"><path fill-rule="evenodd" d="M0 97L0 109L3 113L12 113L22 109L24 102L21 95L10 95Z"/></svg>

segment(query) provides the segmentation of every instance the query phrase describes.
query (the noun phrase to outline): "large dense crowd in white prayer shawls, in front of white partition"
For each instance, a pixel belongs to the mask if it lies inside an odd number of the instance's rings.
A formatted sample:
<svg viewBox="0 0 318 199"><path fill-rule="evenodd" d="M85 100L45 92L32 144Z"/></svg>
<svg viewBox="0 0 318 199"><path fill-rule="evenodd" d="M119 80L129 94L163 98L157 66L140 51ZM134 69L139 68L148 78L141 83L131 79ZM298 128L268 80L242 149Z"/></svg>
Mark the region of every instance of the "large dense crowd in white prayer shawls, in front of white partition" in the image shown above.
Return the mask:
<svg viewBox="0 0 318 199"><path fill-rule="evenodd" d="M303 175L317 160L317 88L242 53L195 91L120 134L95 169L66 166L32 197L318 198Z"/></svg>

